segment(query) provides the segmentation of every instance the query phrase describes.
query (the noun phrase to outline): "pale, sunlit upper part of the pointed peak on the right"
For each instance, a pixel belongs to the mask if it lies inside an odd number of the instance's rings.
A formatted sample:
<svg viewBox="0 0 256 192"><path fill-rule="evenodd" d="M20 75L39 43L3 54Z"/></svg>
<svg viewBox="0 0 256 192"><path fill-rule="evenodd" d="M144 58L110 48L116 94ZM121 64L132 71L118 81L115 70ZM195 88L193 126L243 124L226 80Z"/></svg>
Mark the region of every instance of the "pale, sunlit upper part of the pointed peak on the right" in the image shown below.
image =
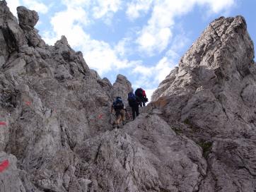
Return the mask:
<svg viewBox="0 0 256 192"><path fill-rule="evenodd" d="M182 56L178 68L153 93L152 100L175 92L173 88L194 91L201 86L211 87L216 80L232 78L231 73L234 71L241 76L248 75L250 66L254 64L254 47L246 28L242 16L221 17L210 23Z"/></svg>

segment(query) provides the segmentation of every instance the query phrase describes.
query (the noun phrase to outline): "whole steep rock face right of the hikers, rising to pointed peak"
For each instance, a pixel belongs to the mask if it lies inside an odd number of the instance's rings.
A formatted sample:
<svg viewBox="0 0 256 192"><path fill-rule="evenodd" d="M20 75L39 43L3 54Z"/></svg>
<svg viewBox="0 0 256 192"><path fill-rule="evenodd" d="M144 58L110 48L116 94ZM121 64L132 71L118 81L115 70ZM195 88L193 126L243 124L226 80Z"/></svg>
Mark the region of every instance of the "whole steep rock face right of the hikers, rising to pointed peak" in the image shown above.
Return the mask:
<svg viewBox="0 0 256 192"><path fill-rule="evenodd" d="M244 18L219 18L153 93L151 107L205 148L208 174L199 191L256 189L253 59Z"/></svg>

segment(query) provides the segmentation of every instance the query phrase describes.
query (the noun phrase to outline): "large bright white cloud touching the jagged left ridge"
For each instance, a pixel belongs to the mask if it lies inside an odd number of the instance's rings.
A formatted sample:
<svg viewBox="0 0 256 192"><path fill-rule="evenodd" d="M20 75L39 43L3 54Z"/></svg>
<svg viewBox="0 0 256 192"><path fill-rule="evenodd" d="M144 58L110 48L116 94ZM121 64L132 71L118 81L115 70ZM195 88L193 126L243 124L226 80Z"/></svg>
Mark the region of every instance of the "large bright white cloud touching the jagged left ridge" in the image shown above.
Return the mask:
<svg viewBox="0 0 256 192"><path fill-rule="evenodd" d="M71 6L65 11L55 13L51 19L53 31L45 32L43 38L45 42L54 44L65 35L71 47L81 50L88 66L100 75L129 67L131 63L121 56L122 52L125 52L126 40L120 42L117 47L111 47L104 41L93 40L84 30L91 22L83 8Z"/></svg>

